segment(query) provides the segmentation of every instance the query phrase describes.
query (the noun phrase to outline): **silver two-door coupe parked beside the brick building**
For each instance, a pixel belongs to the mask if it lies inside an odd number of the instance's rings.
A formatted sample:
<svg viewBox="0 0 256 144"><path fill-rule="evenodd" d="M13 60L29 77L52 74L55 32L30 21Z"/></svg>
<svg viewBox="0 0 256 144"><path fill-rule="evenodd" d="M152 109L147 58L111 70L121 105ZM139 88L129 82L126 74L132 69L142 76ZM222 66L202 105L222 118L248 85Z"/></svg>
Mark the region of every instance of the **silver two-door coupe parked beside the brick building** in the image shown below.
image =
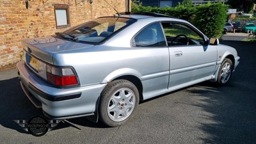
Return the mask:
<svg viewBox="0 0 256 144"><path fill-rule="evenodd" d="M22 43L20 84L45 116L110 127L129 121L141 100L202 81L225 85L239 64L236 49L156 13L100 17Z"/></svg>

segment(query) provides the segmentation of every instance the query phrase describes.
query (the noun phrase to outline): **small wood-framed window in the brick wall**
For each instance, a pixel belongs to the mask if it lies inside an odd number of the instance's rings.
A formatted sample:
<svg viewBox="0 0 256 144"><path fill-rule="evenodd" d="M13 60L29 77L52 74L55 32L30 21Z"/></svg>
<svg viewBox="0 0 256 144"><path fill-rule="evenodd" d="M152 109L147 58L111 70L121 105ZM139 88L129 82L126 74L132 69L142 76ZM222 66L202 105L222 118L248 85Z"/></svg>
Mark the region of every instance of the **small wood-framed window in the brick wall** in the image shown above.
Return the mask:
<svg viewBox="0 0 256 144"><path fill-rule="evenodd" d="M69 4L54 4L56 28L70 27Z"/></svg>

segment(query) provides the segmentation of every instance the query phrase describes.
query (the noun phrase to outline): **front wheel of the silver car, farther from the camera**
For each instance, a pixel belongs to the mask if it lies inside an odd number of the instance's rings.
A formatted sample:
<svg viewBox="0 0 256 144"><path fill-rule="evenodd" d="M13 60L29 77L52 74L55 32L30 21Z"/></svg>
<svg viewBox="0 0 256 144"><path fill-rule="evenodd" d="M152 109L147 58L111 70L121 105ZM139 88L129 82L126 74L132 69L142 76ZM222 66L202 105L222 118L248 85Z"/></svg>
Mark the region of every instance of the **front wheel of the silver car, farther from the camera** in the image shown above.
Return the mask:
<svg viewBox="0 0 256 144"><path fill-rule="evenodd" d="M225 58L221 63L220 70L218 72L217 83L220 86L225 86L229 83L233 72L233 63L230 59Z"/></svg>

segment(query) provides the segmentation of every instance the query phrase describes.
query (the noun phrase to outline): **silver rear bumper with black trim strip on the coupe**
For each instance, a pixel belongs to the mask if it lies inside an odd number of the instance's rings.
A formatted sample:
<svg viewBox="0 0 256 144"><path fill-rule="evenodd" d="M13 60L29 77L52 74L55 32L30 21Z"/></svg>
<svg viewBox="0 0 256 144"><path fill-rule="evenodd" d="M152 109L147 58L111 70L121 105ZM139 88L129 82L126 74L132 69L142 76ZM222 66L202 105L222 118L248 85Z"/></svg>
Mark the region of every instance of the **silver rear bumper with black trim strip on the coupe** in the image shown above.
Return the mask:
<svg viewBox="0 0 256 144"><path fill-rule="evenodd" d="M20 84L36 108L42 108L47 117L74 117L93 115L100 92L106 84L76 88L55 88L26 67L17 63Z"/></svg>

